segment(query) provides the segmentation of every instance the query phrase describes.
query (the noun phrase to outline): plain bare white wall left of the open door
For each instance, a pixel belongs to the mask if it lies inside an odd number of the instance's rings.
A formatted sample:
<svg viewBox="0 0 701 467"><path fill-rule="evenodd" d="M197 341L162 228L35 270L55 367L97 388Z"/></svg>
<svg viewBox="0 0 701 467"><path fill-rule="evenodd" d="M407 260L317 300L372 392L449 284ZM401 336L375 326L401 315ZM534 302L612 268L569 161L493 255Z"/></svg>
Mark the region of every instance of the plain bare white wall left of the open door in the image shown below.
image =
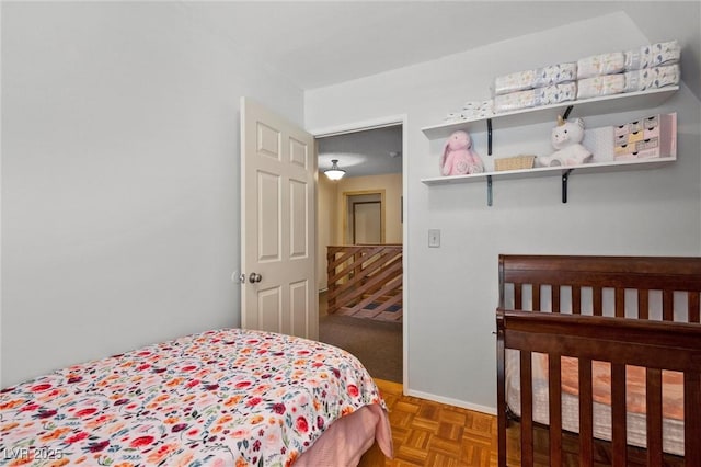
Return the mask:
<svg viewBox="0 0 701 467"><path fill-rule="evenodd" d="M238 326L239 99L303 95L175 2L2 3L2 380Z"/></svg>

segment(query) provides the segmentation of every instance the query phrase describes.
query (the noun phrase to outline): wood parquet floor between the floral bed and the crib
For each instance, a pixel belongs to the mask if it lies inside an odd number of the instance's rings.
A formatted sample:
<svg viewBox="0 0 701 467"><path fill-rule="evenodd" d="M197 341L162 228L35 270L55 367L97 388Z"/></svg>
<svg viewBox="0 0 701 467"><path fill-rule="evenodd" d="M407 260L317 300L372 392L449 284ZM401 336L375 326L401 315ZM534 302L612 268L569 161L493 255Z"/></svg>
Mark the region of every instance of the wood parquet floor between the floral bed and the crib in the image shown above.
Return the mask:
<svg viewBox="0 0 701 467"><path fill-rule="evenodd" d="M403 396L402 385L376 379L387 402L394 458L374 446L361 467L496 465L496 417Z"/></svg>

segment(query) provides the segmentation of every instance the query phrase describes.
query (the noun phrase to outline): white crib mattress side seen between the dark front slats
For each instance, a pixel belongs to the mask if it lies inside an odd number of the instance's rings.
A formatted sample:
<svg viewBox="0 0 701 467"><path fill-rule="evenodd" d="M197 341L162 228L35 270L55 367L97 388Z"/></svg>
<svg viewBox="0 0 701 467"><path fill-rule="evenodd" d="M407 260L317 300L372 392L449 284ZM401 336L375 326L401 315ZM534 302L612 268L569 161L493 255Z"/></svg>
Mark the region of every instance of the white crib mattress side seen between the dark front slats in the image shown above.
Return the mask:
<svg viewBox="0 0 701 467"><path fill-rule="evenodd" d="M539 355L533 354L533 421L548 424L550 411L548 407L548 379L540 369ZM506 403L514 414L520 417L520 376L519 352L506 350ZM595 401L594 436L599 440L611 440L611 407ZM628 412L628 444L639 447L646 445L646 420L642 413ZM579 399L576 396L562 392L562 428L566 431L578 433L579 431ZM663 449L666 453L683 456L683 421L674 418L663 419Z"/></svg>

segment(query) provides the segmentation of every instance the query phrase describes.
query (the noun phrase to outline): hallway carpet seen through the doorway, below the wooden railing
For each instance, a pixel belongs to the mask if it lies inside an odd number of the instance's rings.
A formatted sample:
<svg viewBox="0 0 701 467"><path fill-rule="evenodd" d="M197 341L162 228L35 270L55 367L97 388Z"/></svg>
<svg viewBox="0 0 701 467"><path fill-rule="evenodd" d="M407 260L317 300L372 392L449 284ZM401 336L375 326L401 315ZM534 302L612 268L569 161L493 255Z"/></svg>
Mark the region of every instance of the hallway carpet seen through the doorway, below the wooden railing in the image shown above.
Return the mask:
<svg viewBox="0 0 701 467"><path fill-rule="evenodd" d="M400 322L321 312L320 309L319 340L321 342L350 352L365 365L374 378L402 383L402 324Z"/></svg>

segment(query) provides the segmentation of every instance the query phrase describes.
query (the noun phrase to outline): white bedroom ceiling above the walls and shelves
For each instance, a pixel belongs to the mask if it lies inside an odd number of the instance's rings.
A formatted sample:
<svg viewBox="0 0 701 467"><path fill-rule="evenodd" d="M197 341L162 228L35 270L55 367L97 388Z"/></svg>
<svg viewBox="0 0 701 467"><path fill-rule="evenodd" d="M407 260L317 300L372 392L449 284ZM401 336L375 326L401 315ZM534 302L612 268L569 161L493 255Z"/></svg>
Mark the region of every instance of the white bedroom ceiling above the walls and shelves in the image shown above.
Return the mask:
<svg viewBox="0 0 701 467"><path fill-rule="evenodd" d="M193 27L222 36L237 53L287 77L302 90L623 11L651 43L671 38L680 42L682 80L699 98L700 5L699 0L395 0L188 1L176 8ZM382 147L376 152L388 151L393 149ZM320 169L325 159L320 159Z"/></svg>

